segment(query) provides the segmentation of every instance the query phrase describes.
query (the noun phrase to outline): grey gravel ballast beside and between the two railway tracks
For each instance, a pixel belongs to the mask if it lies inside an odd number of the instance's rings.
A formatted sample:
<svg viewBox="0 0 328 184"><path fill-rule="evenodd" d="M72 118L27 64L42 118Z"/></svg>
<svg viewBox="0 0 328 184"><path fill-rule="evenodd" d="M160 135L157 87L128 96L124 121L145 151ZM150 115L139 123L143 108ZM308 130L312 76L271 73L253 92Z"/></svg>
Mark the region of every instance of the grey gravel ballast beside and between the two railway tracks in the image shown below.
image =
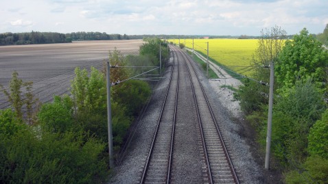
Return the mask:
<svg viewBox="0 0 328 184"><path fill-rule="evenodd" d="M167 70L163 75L165 79L161 80L159 85L154 89L150 105L137 125L136 133L127 149L126 157L124 157L121 165L113 170L109 183L139 183L141 172L148 156L149 145L154 135L156 120L159 118L159 112L163 104L163 96L169 83L170 70L172 69L170 65L172 62L173 57L171 57L167 64ZM233 101L233 92L231 90L221 88L222 85L229 86L231 84L237 88L238 81L208 80L204 77L198 64L196 64L196 72L207 93L215 118L220 124L224 141L227 144L229 154L233 157L232 161L239 179L241 179L241 183L261 183L263 181L261 178L261 169L250 153L250 146L240 136L242 126L238 122L242 118L242 113L239 103L238 101ZM185 91L188 91L189 86L186 85L187 79L185 80L184 88ZM183 96L181 99L183 100L179 101L178 105L188 107L190 114L177 114L176 131L178 133L175 135L176 141L174 145L184 146L179 150L174 150L173 163L178 164L180 168L185 168L185 170L173 169L172 179L174 179L174 183L201 183L203 181L202 161L199 159L201 156L194 155L200 152L198 137L196 137L196 126L194 125L195 123L190 123L195 119L192 115L194 113L192 110L194 107L192 107L191 100L188 96ZM178 106L178 111L181 111L181 107ZM185 133L181 133L183 131L180 130L184 130ZM195 136L193 137L192 135Z"/></svg>

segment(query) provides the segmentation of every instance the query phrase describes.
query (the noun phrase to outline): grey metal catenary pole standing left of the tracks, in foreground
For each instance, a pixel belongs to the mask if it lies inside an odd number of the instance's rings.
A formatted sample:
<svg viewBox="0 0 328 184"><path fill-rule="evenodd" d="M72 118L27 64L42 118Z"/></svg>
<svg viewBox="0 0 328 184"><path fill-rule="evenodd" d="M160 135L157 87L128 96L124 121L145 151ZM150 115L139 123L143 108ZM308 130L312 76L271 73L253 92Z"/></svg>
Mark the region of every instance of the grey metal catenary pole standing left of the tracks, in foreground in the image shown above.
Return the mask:
<svg viewBox="0 0 328 184"><path fill-rule="evenodd" d="M107 62L107 123L108 123L108 152L109 152L109 168L114 168L113 157L113 135L112 135L112 111L110 105L110 66Z"/></svg>

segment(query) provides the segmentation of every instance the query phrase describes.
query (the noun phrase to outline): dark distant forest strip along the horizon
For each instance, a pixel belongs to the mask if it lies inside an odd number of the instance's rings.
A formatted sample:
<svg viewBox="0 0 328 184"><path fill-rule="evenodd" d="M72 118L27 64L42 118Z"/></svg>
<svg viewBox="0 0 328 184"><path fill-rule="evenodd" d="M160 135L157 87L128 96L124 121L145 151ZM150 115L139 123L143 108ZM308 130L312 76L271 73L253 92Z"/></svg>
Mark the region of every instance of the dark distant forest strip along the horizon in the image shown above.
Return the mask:
<svg viewBox="0 0 328 184"><path fill-rule="evenodd" d="M323 44L328 44L328 24L323 34L313 35L318 38ZM162 39L184 39L184 38L237 38L237 39L257 39L259 36L211 36L211 35L121 35L121 34L106 34L105 32L73 32L70 34L60 34L56 32L38 32L30 33L3 33L0 34L0 46L10 44L50 44L50 43L67 43L72 41L83 40L130 40L143 38L162 38ZM288 39L292 35L287 36Z"/></svg>

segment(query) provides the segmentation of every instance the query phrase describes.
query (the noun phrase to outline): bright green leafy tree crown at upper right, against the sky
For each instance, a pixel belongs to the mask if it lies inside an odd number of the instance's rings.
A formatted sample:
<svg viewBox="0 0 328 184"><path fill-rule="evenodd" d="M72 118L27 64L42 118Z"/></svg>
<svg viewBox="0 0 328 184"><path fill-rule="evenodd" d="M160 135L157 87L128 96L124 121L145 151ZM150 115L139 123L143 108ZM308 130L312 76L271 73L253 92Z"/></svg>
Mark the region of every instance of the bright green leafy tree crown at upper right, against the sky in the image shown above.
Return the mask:
<svg viewBox="0 0 328 184"><path fill-rule="evenodd" d="M307 29L296 34L293 40L287 40L274 66L277 82L281 85L280 92L284 93L294 88L296 81L312 79L319 92L327 90L328 53L322 44Z"/></svg>

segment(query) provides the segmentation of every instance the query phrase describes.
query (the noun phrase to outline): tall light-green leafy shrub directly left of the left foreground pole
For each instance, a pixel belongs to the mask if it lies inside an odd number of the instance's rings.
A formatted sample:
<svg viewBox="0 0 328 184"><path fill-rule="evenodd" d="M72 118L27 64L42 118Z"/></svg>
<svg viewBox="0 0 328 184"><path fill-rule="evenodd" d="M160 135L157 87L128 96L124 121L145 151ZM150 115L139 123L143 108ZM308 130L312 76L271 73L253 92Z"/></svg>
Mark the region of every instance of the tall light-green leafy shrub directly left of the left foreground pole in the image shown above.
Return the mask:
<svg viewBox="0 0 328 184"><path fill-rule="evenodd" d="M106 81L104 73L91 67L90 77L86 69L75 68L71 81L71 94L75 121L92 135L106 140Z"/></svg>

